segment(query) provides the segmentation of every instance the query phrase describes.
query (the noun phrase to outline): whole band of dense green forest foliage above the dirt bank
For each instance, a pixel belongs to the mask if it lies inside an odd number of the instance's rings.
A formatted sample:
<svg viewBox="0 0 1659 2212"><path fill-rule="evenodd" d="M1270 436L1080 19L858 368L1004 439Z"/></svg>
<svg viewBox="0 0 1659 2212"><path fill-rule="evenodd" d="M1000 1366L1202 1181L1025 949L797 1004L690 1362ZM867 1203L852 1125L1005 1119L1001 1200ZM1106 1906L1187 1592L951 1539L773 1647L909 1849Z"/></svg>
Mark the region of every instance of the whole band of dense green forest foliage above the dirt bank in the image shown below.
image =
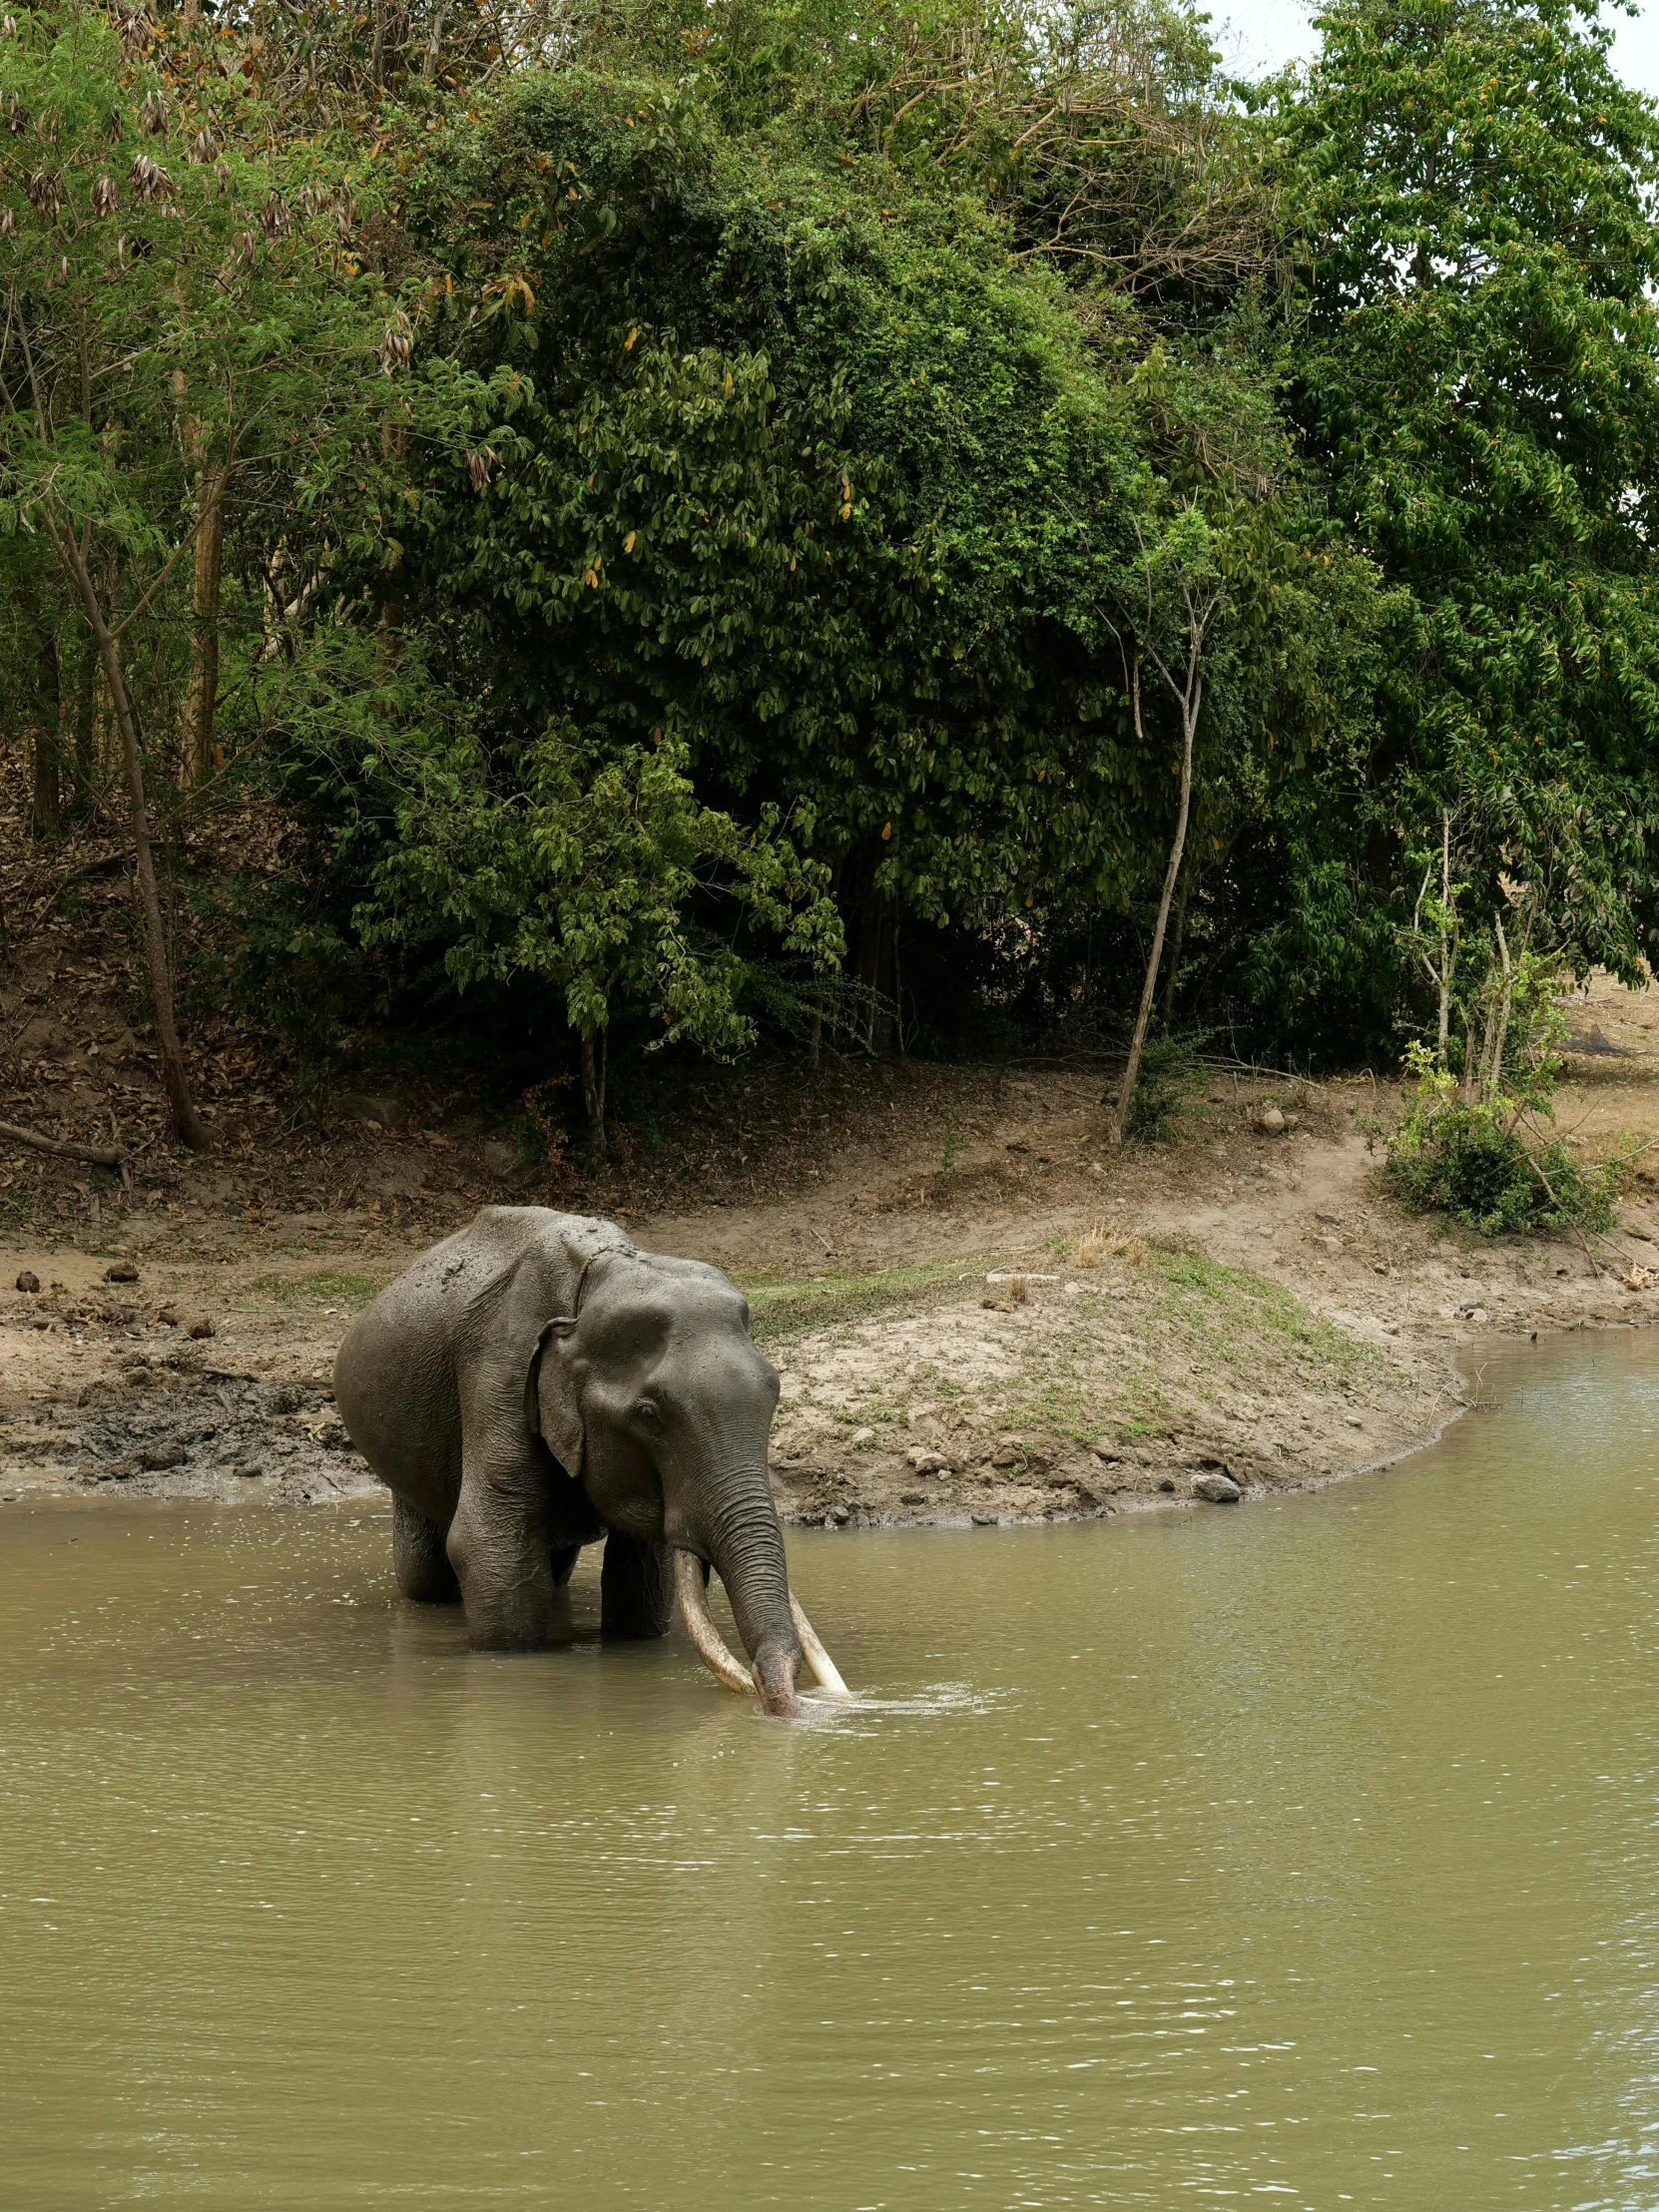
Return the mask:
<svg viewBox="0 0 1659 2212"><path fill-rule="evenodd" d="M1166 867L1170 1035L1462 1068L1511 956L1635 975L1659 119L1568 0L1321 24L1241 93L1179 0L20 11L42 836L80 560L157 810L292 825L232 989L595 1135L611 1035L1121 1035Z"/></svg>

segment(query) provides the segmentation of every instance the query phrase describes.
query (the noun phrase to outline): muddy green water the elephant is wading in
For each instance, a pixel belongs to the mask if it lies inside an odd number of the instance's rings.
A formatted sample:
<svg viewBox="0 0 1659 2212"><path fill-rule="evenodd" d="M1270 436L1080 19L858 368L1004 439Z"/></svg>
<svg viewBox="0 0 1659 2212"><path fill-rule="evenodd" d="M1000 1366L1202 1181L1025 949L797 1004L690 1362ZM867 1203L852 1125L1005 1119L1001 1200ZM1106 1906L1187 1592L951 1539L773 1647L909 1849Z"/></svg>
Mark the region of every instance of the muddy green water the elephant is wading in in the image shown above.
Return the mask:
<svg viewBox="0 0 1659 2212"><path fill-rule="evenodd" d="M1659 1340L1276 1506L807 1535L880 1703L0 1511L0 2199L1659 2203Z"/></svg>

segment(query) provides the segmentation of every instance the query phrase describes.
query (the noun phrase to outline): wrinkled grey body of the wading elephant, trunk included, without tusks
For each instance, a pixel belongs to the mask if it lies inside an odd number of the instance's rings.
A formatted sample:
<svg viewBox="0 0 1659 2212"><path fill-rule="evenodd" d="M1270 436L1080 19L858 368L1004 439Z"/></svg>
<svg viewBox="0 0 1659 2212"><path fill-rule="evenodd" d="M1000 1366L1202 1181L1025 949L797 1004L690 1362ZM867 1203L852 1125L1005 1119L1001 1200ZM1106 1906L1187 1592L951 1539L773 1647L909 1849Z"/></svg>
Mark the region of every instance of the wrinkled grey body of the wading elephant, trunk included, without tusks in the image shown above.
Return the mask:
<svg viewBox="0 0 1659 2212"><path fill-rule="evenodd" d="M546 1644L553 1590L599 1537L604 1632L666 1635L679 1546L726 1584L765 1710L794 1712L765 1471L779 1378L719 1267L487 1206L356 1321L334 1398L394 1493L398 1588L460 1597L476 1650Z"/></svg>

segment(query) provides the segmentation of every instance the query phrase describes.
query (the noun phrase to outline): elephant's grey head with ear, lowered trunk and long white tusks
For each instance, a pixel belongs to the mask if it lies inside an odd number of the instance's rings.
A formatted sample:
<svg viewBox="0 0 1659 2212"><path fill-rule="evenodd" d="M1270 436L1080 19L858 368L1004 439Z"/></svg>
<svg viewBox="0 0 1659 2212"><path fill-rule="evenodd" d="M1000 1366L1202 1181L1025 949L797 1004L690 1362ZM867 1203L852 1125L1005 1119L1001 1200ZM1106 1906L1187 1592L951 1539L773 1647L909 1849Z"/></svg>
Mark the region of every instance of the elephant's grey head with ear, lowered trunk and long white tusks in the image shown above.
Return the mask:
<svg viewBox="0 0 1659 2212"><path fill-rule="evenodd" d="M535 1409L549 1449L608 1528L672 1544L686 1626L712 1672L792 1714L803 1644L818 1681L841 1688L841 1677L790 1595L768 1480L776 1402L743 1296L701 1261L599 1252L575 1312L542 1332ZM708 1615L710 1568L748 1674Z"/></svg>

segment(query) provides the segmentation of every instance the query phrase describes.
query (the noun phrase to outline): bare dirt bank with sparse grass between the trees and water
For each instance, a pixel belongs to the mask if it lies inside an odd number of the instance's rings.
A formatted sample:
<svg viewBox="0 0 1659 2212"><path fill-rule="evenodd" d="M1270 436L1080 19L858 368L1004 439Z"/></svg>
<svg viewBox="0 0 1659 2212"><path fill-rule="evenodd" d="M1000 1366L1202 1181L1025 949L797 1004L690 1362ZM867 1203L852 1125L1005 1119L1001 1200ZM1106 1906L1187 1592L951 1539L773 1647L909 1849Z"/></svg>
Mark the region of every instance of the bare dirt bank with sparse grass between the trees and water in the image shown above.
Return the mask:
<svg viewBox="0 0 1659 2212"><path fill-rule="evenodd" d="M1599 984L1573 1024L1568 1137L1659 1135L1659 1002ZM1323 1482L1433 1433L1480 1338L1659 1310L1650 1179L1593 1248L1489 1243L1378 1192L1367 1130L1396 1102L1369 1082L1212 1075L1166 1144L1124 1155L1102 1088L1084 1066L774 1071L710 1088L655 1181L624 1159L608 1186L538 1175L476 1119L427 1126L418 1095L206 1164L153 1141L131 1190L7 1155L0 1500L369 1491L327 1400L334 1345L491 1199L608 1212L728 1267L783 1371L781 1511L832 1526ZM1287 1133L1259 1130L1265 1099Z"/></svg>

